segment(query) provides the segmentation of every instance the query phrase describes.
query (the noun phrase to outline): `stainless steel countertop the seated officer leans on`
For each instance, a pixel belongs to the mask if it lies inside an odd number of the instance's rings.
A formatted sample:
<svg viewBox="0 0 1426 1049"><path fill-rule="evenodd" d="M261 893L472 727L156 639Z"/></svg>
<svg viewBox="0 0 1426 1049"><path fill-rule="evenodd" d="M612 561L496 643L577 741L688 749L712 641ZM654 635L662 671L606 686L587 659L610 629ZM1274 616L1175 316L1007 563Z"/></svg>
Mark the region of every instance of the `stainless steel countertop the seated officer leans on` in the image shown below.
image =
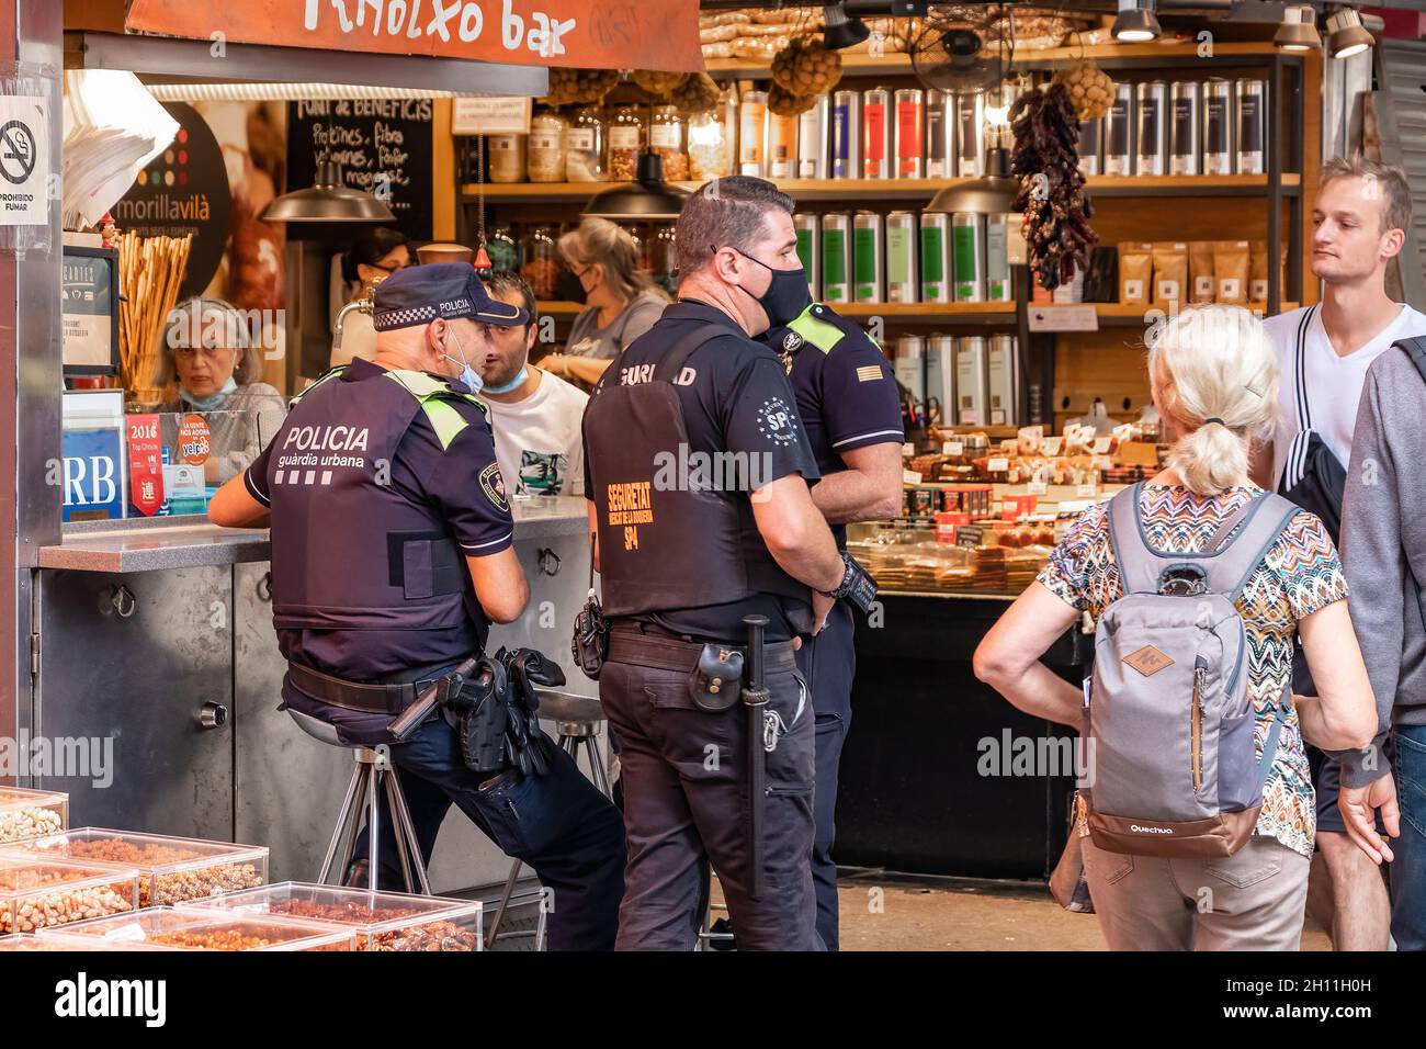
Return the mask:
<svg viewBox="0 0 1426 1049"><path fill-rule="evenodd" d="M583 535L585 500L573 495L516 500L516 541ZM40 548L40 568L84 572L147 572L237 565L271 558L267 529L218 528L198 517L81 521L64 527L64 541Z"/></svg>

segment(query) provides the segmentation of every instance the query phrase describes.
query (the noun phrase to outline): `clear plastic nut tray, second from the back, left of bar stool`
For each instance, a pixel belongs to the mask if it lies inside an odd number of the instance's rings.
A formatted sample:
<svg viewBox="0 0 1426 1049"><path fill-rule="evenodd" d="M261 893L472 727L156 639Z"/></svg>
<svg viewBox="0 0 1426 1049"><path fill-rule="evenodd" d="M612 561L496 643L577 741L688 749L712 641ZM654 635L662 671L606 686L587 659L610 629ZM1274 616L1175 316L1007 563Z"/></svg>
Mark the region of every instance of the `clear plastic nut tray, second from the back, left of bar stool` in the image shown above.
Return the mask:
<svg viewBox="0 0 1426 1049"><path fill-rule="evenodd" d="M268 851L198 838L81 826L0 846L0 855L43 855L138 871L138 906L170 906L267 885Z"/></svg>

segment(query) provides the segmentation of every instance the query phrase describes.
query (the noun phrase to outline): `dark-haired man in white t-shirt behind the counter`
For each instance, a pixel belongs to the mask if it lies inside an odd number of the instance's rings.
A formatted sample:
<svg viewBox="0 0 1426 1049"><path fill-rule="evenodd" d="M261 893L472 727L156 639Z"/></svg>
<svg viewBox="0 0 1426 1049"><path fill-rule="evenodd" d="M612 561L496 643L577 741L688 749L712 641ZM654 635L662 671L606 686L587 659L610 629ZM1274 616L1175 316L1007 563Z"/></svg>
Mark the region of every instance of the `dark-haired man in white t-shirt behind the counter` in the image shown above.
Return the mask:
<svg viewBox="0 0 1426 1049"><path fill-rule="evenodd" d="M491 328L479 370L481 400L491 407L495 458L505 488L520 495L583 495L585 445L580 421L589 395L529 363L538 320L535 294L513 274L496 273L485 284L491 298L523 307L529 324Z"/></svg>

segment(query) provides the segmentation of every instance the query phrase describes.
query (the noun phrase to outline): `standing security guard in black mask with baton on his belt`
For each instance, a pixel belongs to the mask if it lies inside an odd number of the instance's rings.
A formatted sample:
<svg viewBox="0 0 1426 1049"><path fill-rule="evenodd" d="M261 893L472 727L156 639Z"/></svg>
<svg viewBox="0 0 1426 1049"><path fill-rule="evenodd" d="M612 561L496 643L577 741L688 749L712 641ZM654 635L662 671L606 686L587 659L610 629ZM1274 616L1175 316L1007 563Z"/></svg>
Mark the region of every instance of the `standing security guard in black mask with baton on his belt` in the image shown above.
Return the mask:
<svg viewBox="0 0 1426 1049"><path fill-rule="evenodd" d="M620 739L629 838L619 948L692 948L710 862L740 949L817 949L813 716L793 639L817 628L847 568L809 494L817 464L787 375L753 341L806 297L791 200L760 178L709 183L676 240L679 301L606 370L585 414L612 622L599 695ZM769 621L770 702L753 716L729 706L749 614ZM761 796L747 789L749 731L761 734Z"/></svg>

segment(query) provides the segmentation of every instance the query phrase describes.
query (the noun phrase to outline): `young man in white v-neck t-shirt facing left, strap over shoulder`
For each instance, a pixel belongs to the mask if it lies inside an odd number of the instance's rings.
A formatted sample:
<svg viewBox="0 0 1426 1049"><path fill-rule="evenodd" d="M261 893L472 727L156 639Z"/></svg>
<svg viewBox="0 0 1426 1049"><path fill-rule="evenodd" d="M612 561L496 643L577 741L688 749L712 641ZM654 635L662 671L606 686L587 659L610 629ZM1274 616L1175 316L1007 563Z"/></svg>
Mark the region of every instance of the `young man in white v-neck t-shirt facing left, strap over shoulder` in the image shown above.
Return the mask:
<svg viewBox="0 0 1426 1049"><path fill-rule="evenodd" d="M1410 211L1410 187L1400 168L1358 157L1336 157L1322 166L1309 244L1312 273L1325 288L1322 303L1265 321L1278 348L1281 420L1271 445L1255 450L1253 480L1262 487L1279 491L1285 472L1288 487L1301 477L1306 461L1306 438L1299 437L1303 418L1350 470L1366 370L1396 340L1426 335L1426 315L1386 294L1386 267L1402 250ZM1296 682L1293 691L1303 688ZM1338 951L1385 951L1390 912L1382 873L1346 833L1338 805L1339 762L1330 755L1312 756L1316 846L1326 876L1315 866L1308 911ZM1349 782L1340 786L1340 802L1362 804L1366 791Z"/></svg>

